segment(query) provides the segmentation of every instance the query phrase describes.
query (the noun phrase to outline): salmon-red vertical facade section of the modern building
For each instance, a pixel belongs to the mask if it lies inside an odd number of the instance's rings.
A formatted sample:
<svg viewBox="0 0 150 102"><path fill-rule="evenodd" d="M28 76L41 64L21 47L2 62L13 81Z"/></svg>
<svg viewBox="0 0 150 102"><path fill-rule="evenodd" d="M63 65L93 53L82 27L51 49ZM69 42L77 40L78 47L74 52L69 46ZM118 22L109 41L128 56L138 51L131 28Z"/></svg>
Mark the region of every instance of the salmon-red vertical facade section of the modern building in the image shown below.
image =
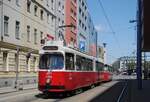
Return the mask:
<svg viewBox="0 0 150 102"><path fill-rule="evenodd" d="M77 1L65 0L65 25L75 27L65 28L65 43L67 46L77 46Z"/></svg>

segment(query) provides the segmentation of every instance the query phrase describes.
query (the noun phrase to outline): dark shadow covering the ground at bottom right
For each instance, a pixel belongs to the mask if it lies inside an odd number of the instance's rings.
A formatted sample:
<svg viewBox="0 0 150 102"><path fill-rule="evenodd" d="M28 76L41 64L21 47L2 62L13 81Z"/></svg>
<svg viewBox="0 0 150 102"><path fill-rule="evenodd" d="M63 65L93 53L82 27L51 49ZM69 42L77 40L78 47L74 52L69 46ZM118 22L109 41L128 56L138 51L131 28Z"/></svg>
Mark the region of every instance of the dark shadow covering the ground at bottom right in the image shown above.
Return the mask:
<svg viewBox="0 0 150 102"><path fill-rule="evenodd" d="M120 80L119 83L97 95L90 102L117 102L125 82L127 82L127 87L120 102L150 102L150 80L142 80L143 88L139 90L136 79Z"/></svg>

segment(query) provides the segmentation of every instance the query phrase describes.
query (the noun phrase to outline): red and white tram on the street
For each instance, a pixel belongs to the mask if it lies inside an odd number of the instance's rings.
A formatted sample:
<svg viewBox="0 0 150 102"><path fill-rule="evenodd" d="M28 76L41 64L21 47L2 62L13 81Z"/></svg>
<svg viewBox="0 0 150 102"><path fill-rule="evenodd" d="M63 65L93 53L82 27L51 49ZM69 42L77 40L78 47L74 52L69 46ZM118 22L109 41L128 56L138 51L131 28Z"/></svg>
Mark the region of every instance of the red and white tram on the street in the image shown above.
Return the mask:
<svg viewBox="0 0 150 102"><path fill-rule="evenodd" d="M97 58L61 45L40 50L38 88L42 92L66 92L111 80Z"/></svg>

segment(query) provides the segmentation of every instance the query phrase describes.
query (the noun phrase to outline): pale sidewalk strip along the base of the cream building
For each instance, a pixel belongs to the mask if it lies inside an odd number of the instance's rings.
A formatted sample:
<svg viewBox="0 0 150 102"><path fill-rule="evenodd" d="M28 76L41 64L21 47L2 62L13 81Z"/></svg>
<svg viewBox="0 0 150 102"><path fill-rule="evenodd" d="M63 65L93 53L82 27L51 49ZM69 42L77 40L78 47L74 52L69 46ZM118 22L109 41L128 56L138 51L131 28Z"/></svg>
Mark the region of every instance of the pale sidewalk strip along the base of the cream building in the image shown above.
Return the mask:
<svg viewBox="0 0 150 102"><path fill-rule="evenodd" d="M38 84L27 84L27 85L23 85L22 90L34 89L34 88L37 88L37 87L38 87ZM14 88L14 87L3 87L3 88L0 88L0 94L16 92L16 91L19 91L19 90Z"/></svg>

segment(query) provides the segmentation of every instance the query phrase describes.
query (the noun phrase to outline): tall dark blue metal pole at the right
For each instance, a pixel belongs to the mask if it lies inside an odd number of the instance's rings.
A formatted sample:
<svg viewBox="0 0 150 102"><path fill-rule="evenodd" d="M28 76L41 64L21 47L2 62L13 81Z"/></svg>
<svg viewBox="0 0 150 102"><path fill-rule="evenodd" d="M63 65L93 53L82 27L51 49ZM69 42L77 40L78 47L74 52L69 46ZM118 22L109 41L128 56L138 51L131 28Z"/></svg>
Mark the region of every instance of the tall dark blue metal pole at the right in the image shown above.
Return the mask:
<svg viewBox="0 0 150 102"><path fill-rule="evenodd" d="M141 0L138 0L138 12L137 12L137 81L138 89L142 89L142 32L141 32Z"/></svg>

